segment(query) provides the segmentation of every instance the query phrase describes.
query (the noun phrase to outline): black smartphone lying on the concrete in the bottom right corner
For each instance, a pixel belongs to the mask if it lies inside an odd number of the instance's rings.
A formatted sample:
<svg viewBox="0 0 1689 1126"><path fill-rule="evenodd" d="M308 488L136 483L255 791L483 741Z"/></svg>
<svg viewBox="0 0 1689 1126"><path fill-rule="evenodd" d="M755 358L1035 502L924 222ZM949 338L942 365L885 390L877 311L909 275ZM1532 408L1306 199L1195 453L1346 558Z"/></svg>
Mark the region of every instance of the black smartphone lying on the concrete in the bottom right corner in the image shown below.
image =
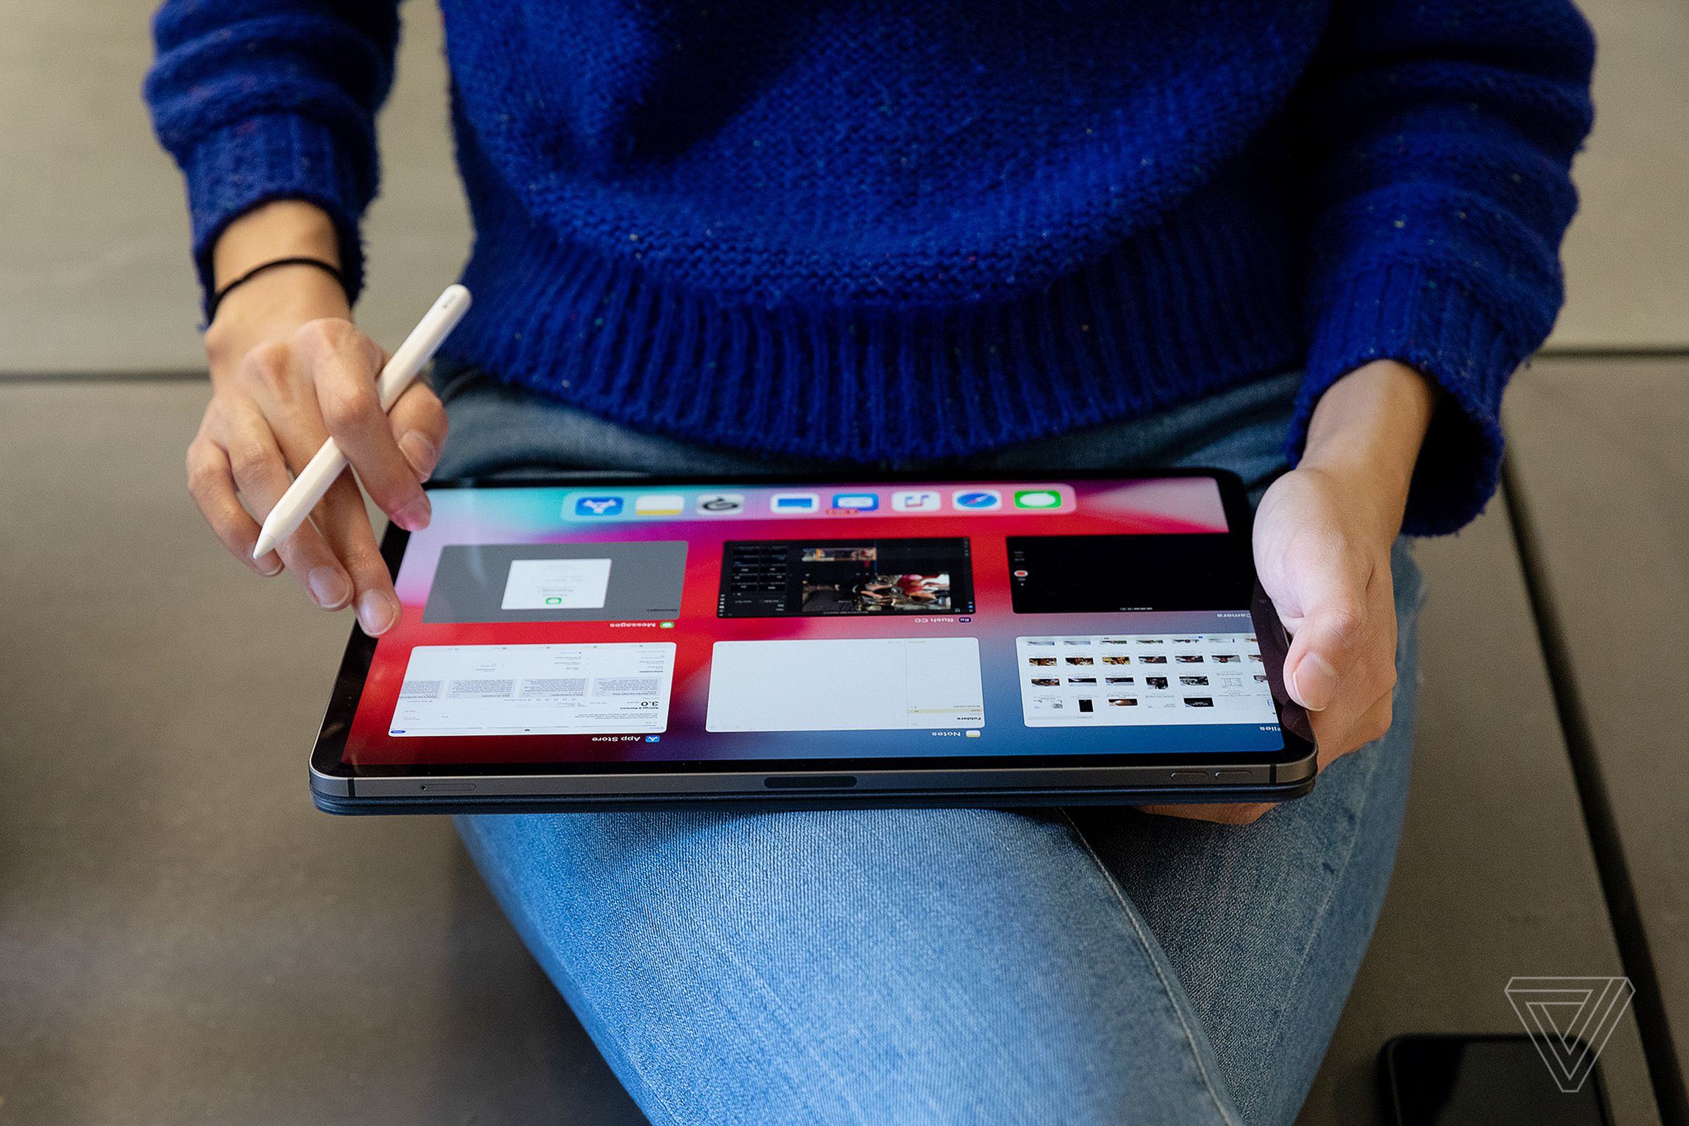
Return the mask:
<svg viewBox="0 0 1689 1126"><path fill-rule="evenodd" d="M1527 1035L1395 1037L1378 1053L1392 1126L1611 1126L1599 1067L1561 1091Z"/></svg>

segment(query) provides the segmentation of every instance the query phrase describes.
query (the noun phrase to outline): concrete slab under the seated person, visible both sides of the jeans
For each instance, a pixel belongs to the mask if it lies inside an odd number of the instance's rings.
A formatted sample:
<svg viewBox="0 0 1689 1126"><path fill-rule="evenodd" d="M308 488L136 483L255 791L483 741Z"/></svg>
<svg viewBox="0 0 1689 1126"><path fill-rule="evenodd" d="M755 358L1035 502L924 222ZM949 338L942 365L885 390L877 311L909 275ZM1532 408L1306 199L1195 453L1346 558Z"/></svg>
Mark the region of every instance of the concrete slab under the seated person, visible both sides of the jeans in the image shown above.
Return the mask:
<svg viewBox="0 0 1689 1126"><path fill-rule="evenodd" d="M0 383L0 1118L638 1123L448 822L311 809L348 623L211 545L203 403ZM1513 1030L1513 974L1621 972L1505 512L1420 559L1414 802L1302 1123L1378 1121L1390 1035ZM1603 1069L1659 1121L1633 1020Z"/></svg>

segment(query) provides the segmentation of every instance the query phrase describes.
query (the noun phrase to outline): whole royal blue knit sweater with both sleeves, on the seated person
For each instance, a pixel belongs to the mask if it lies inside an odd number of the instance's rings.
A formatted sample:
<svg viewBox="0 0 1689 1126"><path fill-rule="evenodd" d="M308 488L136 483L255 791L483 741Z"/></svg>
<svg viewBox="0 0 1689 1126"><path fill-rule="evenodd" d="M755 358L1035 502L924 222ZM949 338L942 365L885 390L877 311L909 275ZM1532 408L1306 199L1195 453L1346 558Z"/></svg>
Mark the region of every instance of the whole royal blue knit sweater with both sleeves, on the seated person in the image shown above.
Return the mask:
<svg viewBox="0 0 1689 1126"><path fill-rule="evenodd" d="M275 198L356 287L395 0L169 0L147 98L201 273ZM419 15L421 19L421 15ZM1566 0L444 0L456 360L633 427L953 457L1375 358L1447 392L1409 530L1495 488L1561 304Z"/></svg>

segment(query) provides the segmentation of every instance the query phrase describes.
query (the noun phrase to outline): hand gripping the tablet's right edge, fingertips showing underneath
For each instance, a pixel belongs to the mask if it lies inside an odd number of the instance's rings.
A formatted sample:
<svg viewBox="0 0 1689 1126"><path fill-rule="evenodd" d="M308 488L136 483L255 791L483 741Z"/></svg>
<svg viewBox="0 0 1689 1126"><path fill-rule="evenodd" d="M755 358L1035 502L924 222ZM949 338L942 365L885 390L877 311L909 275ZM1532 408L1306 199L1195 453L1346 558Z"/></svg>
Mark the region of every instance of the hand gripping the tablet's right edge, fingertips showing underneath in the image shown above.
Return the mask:
<svg viewBox="0 0 1689 1126"><path fill-rule="evenodd" d="M1292 638L1284 680L1314 724L1321 770L1390 729L1390 545L1432 402L1432 387L1404 365L1350 373L1321 398L1301 466L1274 481L1255 513L1255 569ZM1274 805L1149 812L1248 824Z"/></svg>

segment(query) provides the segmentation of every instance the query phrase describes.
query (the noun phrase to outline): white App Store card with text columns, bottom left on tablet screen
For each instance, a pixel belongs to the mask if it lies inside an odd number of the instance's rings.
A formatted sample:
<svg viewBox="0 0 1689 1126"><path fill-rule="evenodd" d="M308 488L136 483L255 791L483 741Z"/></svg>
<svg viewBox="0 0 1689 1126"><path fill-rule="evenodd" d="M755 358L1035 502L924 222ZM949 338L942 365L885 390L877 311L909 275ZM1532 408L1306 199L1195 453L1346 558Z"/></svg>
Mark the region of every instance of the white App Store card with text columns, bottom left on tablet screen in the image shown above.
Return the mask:
<svg viewBox="0 0 1689 1126"><path fill-rule="evenodd" d="M672 641L419 645L388 734L659 733L672 682Z"/></svg>

